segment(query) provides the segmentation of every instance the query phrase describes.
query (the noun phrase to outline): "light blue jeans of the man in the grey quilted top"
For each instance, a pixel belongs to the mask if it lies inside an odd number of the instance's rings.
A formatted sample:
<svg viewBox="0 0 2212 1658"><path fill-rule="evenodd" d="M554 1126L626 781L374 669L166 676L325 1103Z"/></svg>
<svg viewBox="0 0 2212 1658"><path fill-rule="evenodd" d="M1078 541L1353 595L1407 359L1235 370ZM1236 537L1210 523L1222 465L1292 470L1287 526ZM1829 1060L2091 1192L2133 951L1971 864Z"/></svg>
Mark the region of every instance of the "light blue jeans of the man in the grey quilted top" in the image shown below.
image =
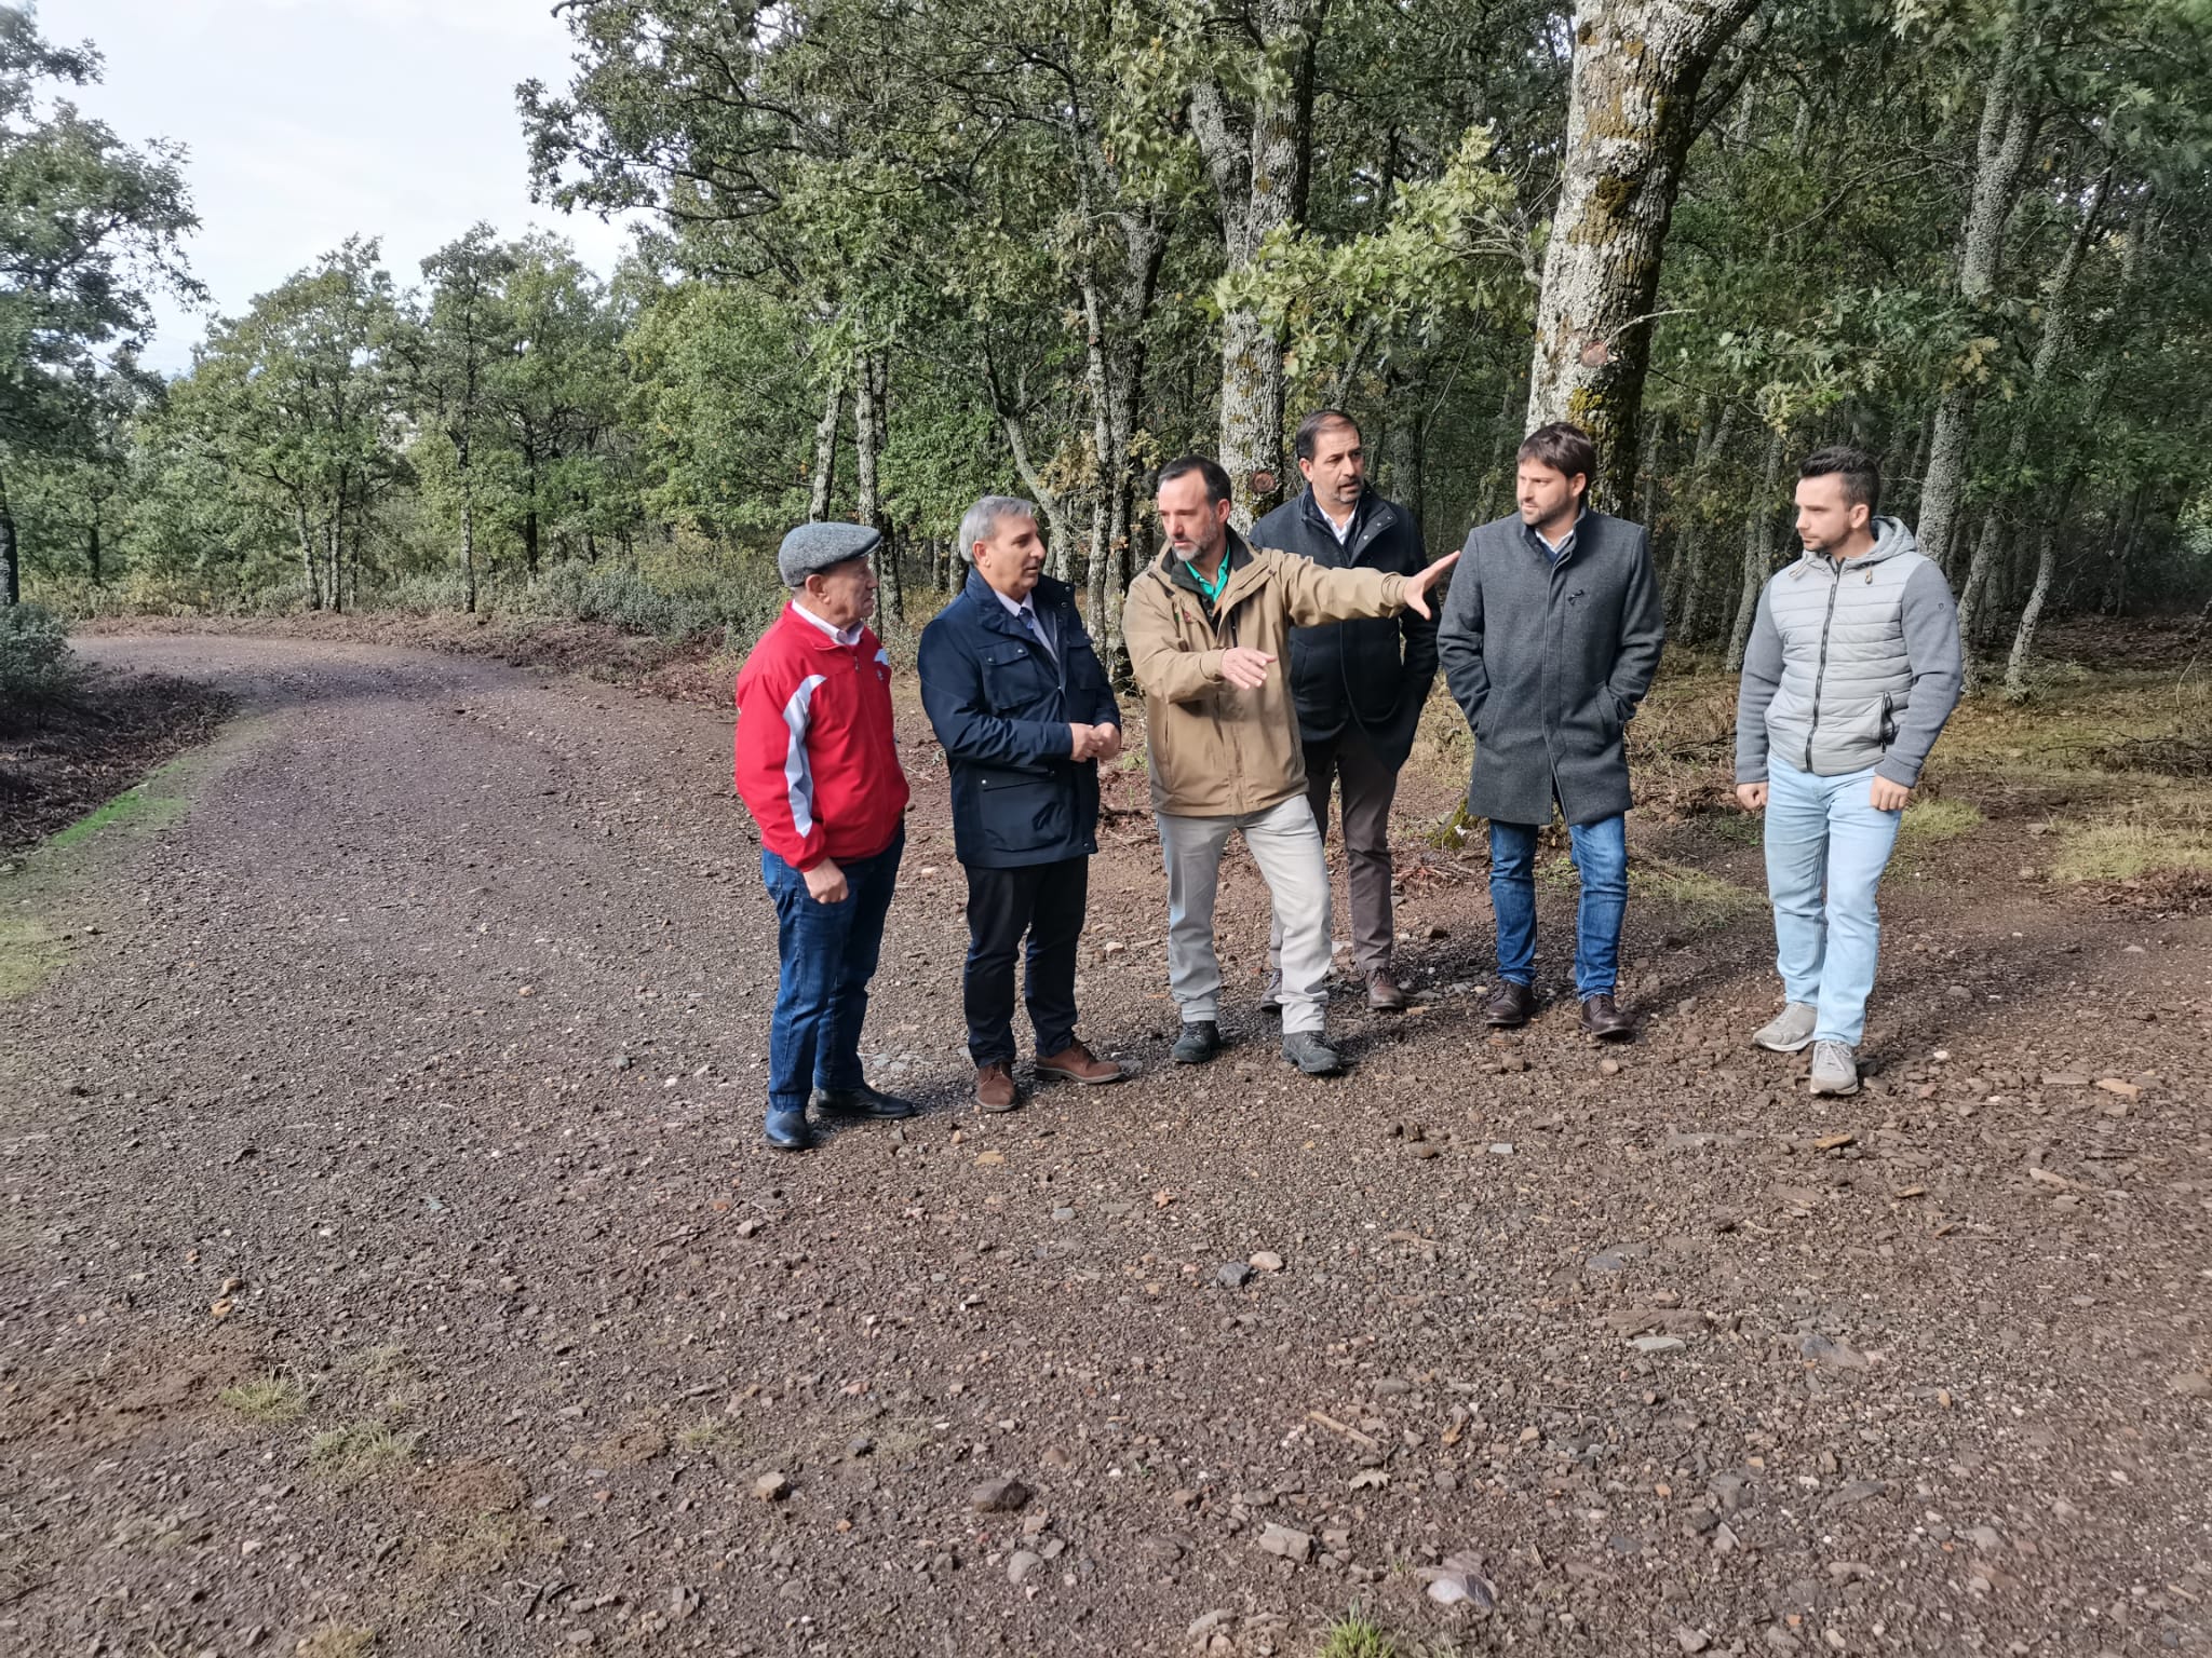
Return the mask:
<svg viewBox="0 0 2212 1658"><path fill-rule="evenodd" d="M1898 844L1900 811L1876 811L1874 767L1840 778L1767 760L1767 895L1783 995L1818 1010L1814 1041L1851 1048L1882 944L1874 889ZM1827 884L1827 904L1820 886Z"/></svg>

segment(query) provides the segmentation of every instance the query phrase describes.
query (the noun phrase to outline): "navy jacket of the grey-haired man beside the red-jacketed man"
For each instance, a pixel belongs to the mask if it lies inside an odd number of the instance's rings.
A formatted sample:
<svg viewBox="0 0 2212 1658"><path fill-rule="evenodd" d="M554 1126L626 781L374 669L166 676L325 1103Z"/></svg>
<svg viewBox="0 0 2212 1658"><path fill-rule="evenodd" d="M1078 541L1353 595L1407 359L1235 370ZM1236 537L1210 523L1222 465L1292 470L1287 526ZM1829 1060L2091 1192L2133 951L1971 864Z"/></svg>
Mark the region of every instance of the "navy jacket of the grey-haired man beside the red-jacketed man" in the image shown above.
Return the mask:
<svg viewBox="0 0 2212 1658"><path fill-rule="evenodd" d="M1031 595L1040 646L980 575L922 628L922 710L953 774L953 849L969 869L1022 869L1099 849L1099 767L1073 760L1071 725L1121 725L1075 588Z"/></svg>

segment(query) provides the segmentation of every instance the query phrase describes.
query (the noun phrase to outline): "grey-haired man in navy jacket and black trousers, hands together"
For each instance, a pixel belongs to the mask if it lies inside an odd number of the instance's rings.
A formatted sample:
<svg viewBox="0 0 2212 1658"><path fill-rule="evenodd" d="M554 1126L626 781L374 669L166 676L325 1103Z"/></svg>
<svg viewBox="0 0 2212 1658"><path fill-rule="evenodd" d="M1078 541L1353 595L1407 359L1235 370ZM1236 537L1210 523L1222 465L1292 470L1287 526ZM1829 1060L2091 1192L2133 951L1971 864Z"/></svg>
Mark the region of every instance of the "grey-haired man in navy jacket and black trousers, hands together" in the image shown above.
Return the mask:
<svg viewBox="0 0 2212 1658"><path fill-rule="evenodd" d="M960 520L967 588L922 630L922 707L953 780L953 849L969 884L960 993L975 1108L1011 1112L1013 962L1029 935L1024 1001L1037 1077L1117 1083L1121 1066L1075 1039L1075 940L1097 844L1099 760L1121 712L1075 588L1044 575L1037 508L984 495Z"/></svg>

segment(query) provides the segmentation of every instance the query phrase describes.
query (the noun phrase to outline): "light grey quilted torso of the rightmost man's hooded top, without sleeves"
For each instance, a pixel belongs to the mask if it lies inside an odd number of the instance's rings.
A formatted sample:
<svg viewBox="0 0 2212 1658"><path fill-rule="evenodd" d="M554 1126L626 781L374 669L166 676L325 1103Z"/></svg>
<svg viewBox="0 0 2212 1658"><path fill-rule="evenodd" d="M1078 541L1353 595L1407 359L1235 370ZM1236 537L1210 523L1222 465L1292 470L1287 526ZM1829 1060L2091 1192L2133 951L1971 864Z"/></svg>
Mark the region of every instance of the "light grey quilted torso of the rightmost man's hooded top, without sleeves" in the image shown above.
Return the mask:
<svg viewBox="0 0 2212 1658"><path fill-rule="evenodd" d="M1911 531L1878 520L1874 550L1805 555L1767 586L1783 679L1767 703L1774 758L1834 778L1878 765L1911 701L1905 584L1927 564Z"/></svg>

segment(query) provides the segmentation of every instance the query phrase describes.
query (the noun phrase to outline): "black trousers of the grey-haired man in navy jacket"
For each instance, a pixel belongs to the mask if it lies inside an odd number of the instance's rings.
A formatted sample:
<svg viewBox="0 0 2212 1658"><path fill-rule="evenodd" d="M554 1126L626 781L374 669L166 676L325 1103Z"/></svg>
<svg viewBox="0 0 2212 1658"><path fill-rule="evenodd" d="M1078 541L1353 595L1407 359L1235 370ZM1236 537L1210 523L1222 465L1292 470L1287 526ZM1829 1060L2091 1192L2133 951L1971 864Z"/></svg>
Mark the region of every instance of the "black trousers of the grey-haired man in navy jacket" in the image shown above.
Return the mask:
<svg viewBox="0 0 2212 1658"><path fill-rule="evenodd" d="M1013 1063L1013 959L1029 935L1022 1001L1037 1032L1037 1057L1075 1041L1075 940L1084 931L1091 860L1066 858L1026 869L969 869L969 957L960 997L969 1059Z"/></svg>

